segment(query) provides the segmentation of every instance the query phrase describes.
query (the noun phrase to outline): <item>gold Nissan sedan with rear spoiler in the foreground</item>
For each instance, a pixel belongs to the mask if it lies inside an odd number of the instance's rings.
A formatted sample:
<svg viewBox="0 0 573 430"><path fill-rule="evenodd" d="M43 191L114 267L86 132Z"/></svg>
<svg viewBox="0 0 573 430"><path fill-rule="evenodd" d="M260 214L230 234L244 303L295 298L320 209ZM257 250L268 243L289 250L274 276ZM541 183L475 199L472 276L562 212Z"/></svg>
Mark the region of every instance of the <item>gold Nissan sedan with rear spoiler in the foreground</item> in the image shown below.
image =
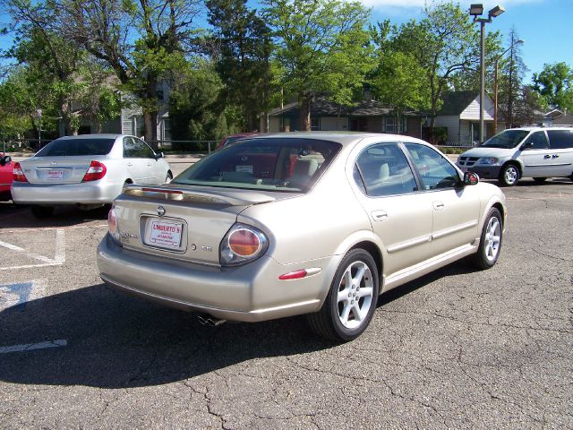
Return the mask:
<svg viewBox="0 0 573 430"><path fill-rule="evenodd" d="M98 268L110 286L203 323L308 314L325 338L353 340L381 292L466 256L495 264L505 197L478 182L406 136L257 136L168 185L128 185Z"/></svg>

